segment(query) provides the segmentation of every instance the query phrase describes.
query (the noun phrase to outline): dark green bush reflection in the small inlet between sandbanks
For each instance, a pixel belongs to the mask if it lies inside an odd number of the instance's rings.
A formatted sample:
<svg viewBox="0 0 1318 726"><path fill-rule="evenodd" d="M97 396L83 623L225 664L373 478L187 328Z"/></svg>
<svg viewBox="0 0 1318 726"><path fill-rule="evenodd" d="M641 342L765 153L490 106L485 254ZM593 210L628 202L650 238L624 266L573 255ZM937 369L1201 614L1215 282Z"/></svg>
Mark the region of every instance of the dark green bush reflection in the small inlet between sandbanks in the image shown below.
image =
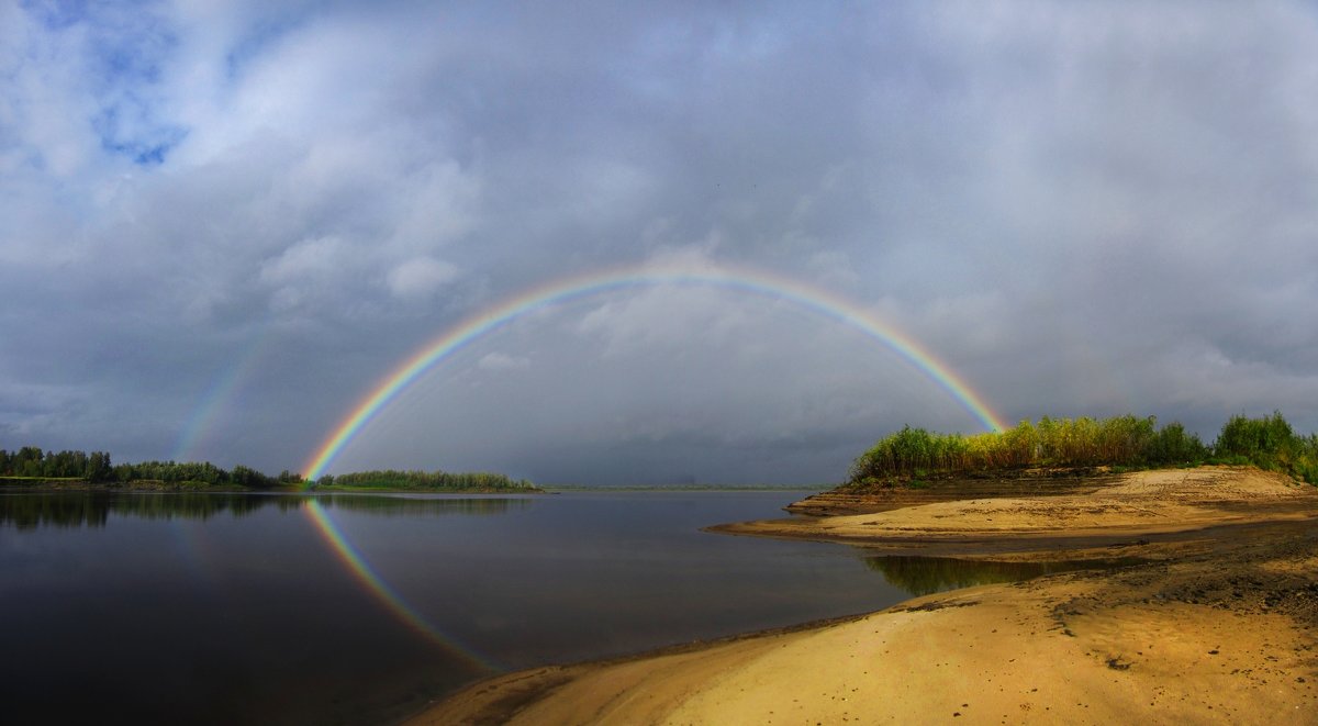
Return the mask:
<svg viewBox="0 0 1318 726"><path fill-rule="evenodd" d="M870 569L880 572L890 585L912 596L927 596L973 585L1019 582L1056 572L1126 567L1143 561L1139 557L1115 557L1053 563L988 563L907 555L866 559Z"/></svg>

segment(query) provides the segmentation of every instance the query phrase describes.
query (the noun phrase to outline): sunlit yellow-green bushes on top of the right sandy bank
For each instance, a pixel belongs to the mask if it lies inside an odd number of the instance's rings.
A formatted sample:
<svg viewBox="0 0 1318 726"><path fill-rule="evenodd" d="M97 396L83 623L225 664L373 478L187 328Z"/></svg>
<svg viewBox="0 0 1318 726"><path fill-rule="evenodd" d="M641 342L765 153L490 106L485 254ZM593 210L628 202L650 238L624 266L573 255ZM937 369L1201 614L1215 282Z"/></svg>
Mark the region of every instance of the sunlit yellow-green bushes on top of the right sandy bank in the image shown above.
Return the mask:
<svg viewBox="0 0 1318 726"><path fill-rule="evenodd" d="M1232 416L1211 445L1155 416L1023 420L988 433L903 427L851 465L844 489L919 486L927 478L1019 476L1054 470L1122 472L1202 464L1252 465L1318 484L1318 435L1296 433L1281 412Z"/></svg>

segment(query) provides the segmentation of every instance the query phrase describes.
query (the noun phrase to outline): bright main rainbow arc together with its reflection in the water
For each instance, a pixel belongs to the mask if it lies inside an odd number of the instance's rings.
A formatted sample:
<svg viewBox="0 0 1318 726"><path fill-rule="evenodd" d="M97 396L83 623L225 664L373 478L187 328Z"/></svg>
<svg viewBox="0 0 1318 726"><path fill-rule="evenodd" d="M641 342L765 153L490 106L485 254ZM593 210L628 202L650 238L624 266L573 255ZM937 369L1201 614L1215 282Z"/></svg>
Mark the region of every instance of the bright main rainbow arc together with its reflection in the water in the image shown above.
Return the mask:
<svg viewBox="0 0 1318 726"><path fill-rule="evenodd" d="M304 477L314 484L326 473L335 457L370 420L414 381L436 364L471 344L476 339L494 331L529 312L575 299L658 285L704 285L759 295L775 300L787 300L830 320L850 325L869 337L878 340L896 352L903 360L928 376L952 398L961 403L982 426L992 431L1006 428L1002 420L946 365L940 362L909 336L899 332L871 312L845 300L844 298L796 281L771 275L763 271L710 267L710 266L638 266L621 267L602 273L559 279L510 298L494 307L465 319L448 332L414 353L402 365L386 376L362 398L347 418L333 430L328 439L312 455L304 466ZM480 656L476 651L457 643L453 638L436 630L424 617L414 610L387 582L385 582L361 556L361 553L339 531L328 513L319 502L307 506L308 517L326 542L344 561L368 590L384 602L395 615L416 632L430 638L453 652L471 660L498 669L496 664Z"/></svg>

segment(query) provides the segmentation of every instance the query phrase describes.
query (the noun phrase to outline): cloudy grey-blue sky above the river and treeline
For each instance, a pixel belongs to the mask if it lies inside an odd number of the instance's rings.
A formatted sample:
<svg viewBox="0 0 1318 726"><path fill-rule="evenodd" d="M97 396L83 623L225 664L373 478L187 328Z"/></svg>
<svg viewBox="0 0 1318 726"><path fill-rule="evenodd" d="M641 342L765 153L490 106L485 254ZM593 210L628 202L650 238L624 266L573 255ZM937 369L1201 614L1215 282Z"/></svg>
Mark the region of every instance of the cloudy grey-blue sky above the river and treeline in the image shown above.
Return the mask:
<svg viewBox="0 0 1318 726"><path fill-rule="evenodd" d="M1008 423L1313 432L1315 209L1314 3L0 0L0 448L306 470L618 270L328 470L836 482L985 430L660 269L845 302Z"/></svg>

